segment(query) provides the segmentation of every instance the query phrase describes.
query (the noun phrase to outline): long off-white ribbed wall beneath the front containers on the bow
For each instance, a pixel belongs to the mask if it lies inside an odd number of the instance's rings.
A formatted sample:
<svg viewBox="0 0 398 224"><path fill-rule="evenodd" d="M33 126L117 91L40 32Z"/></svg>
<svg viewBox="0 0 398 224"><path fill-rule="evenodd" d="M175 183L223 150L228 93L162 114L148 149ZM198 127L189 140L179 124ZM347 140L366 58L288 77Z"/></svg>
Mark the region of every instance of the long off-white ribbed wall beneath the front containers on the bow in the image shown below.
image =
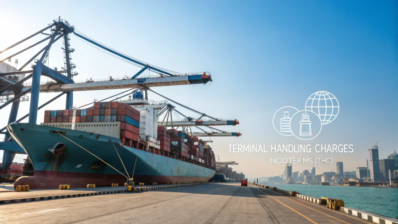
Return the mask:
<svg viewBox="0 0 398 224"><path fill-rule="evenodd" d="M67 123L41 123L46 126L61 127L72 129L72 122ZM112 122L77 122L75 130L91 132L95 134L106 135L120 138L120 121Z"/></svg>

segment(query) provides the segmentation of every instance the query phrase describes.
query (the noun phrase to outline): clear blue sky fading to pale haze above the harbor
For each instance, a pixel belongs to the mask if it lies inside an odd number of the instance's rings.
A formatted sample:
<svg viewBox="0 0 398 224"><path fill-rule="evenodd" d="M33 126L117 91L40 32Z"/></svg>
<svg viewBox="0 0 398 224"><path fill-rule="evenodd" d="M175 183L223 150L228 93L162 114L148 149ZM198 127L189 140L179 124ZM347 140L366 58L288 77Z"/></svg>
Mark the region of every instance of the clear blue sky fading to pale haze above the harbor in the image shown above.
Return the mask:
<svg viewBox="0 0 398 224"><path fill-rule="evenodd" d="M239 162L235 169L249 177L280 175L284 168L268 164L268 157L275 155L233 154L228 144L303 143L274 130L274 112L284 106L303 108L316 91L331 92L339 100L340 113L309 143L354 144L350 155L331 154L335 161L344 162L345 171L351 171L366 166L367 149L377 141L380 158L398 148L397 8L394 0L70 0L65 6L54 1L2 1L0 48L60 15L86 35L145 62L181 73L209 71L213 82L204 86L155 91L207 114L239 119L240 125L223 129L243 135L213 138L212 146L220 160ZM63 65L61 44L51 49L50 67ZM107 78L108 73L132 76L138 71L76 36L71 44L80 73L76 80ZM17 58L24 62L34 51ZM118 92L75 93L75 105ZM39 104L55 95L41 94ZM19 116L28 111L28 104L21 103ZM64 105L62 98L44 110ZM1 126L8 112L9 107L0 111ZM294 164L293 171L311 166ZM335 163L316 167L317 173L336 171Z"/></svg>

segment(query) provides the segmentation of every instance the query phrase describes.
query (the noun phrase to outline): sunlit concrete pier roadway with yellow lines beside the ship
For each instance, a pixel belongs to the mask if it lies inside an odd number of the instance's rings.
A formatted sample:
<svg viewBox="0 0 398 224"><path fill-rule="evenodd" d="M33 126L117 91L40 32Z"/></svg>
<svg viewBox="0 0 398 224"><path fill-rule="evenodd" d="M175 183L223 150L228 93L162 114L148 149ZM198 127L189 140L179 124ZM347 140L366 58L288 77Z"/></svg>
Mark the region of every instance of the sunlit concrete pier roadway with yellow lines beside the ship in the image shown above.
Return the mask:
<svg viewBox="0 0 398 224"><path fill-rule="evenodd" d="M4 204L0 206L0 223L371 222L279 192L232 182Z"/></svg>

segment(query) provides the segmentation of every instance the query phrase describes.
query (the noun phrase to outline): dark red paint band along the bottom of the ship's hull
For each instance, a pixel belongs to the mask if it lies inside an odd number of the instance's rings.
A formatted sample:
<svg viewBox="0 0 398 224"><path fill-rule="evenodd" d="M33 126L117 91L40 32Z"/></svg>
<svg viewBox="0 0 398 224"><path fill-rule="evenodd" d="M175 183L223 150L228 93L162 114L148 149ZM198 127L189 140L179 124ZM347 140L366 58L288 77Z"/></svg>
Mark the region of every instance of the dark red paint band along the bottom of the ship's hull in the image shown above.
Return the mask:
<svg viewBox="0 0 398 224"><path fill-rule="evenodd" d="M131 174L130 174L131 175ZM153 182L165 184L168 182L206 182L206 177L182 177L182 176L134 176L135 183L151 185ZM114 174L90 174L73 172L35 171L33 177L20 177L14 183L14 189L18 185L29 185L30 189L53 189L61 184L69 184L71 188L85 188L88 184L97 187L109 187L111 184L123 186L126 178Z"/></svg>

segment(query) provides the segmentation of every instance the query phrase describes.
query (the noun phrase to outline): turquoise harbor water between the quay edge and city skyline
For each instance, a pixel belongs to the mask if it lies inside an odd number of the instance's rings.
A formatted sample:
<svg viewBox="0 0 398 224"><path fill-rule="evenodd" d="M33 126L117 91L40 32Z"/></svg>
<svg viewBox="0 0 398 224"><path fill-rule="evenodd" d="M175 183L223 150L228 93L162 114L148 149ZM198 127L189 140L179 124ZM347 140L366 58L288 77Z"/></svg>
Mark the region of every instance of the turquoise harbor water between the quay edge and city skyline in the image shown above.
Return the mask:
<svg viewBox="0 0 398 224"><path fill-rule="evenodd" d="M348 187L302 184L266 184L287 191L297 191L316 198L341 199L345 206L398 218L398 188Z"/></svg>

